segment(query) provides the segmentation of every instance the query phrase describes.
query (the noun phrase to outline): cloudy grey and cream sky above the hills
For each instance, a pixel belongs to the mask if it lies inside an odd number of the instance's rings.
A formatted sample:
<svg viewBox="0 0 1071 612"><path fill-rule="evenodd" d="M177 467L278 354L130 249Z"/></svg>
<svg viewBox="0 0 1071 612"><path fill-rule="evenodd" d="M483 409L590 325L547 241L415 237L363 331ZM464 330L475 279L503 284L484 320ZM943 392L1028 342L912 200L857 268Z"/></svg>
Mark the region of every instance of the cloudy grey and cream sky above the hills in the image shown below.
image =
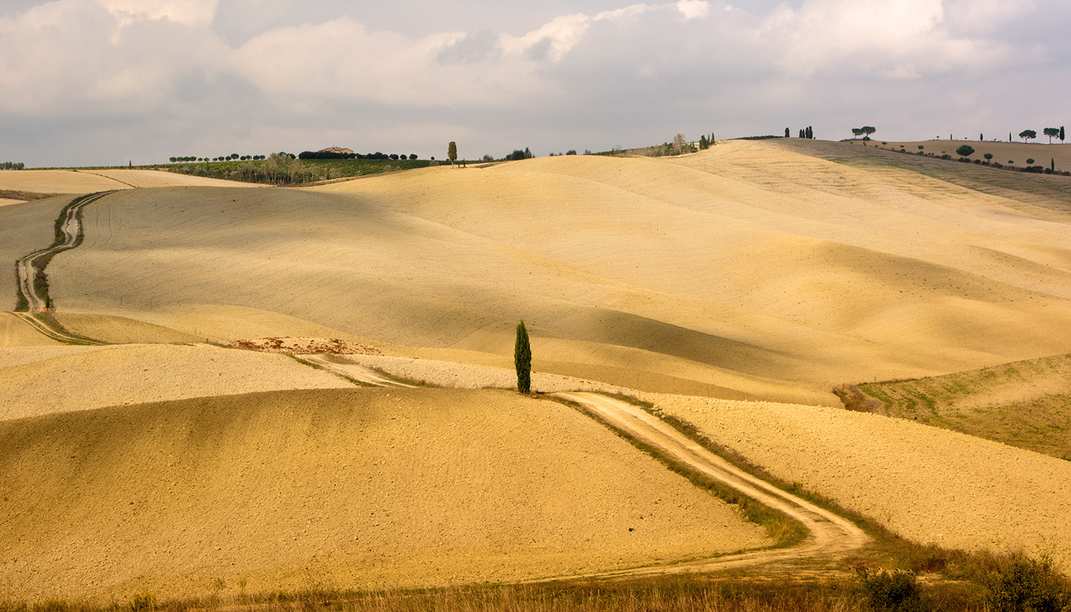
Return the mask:
<svg viewBox="0 0 1071 612"><path fill-rule="evenodd" d="M0 162L28 167L1007 139L1069 101L1066 0L0 0Z"/></svg>

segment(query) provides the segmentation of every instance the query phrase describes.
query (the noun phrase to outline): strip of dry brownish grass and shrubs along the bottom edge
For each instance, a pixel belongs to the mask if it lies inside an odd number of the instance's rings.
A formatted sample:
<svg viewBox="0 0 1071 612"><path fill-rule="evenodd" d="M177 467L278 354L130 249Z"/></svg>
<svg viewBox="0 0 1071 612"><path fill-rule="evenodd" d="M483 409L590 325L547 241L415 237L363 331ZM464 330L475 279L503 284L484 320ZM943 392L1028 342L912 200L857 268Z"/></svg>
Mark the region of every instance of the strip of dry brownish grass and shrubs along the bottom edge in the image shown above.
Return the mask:
<svg viewBox="0 0 1071 612"><path fill-rule="evenodd" d="M666 576L615 581L562 581L435 589L344 591L319 585L250 594L223 579L200 598L161 600L140 592L110 606L50 599L0 600L0 612L1058 612L1071 602L1071 581L1045 559L1021 554L970 555L944 551L938 570L870 572L778 571L761 576ZM873 588L874 578L896 576L912 598ZM228 589L231 593L227 593ZM1023 604L1026 603L1026 607Z"/></svg>

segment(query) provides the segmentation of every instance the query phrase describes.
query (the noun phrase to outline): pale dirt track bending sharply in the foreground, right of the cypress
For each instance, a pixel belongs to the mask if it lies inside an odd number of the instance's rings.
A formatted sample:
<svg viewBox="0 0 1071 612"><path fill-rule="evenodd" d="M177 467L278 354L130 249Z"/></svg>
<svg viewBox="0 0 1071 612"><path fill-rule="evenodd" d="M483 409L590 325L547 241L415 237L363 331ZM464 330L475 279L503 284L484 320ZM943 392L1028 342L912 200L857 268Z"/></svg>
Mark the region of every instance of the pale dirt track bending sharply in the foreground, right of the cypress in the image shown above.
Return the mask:
<svg viewBox="0 0 1071 612"><path fill-rule="evenodd" d="M569 392L558 397L582 404L595 416L632 437L667 453L690 468L723 482L766 506L800 521L811 535L790 549L746 552L673 566L645 567L593 574L627 577L660 573L711 571L800 558L829 558L862 547L870 536L850 521L825 510L756 478L685 437L665 421L647 412L598 393Z"/></svg>

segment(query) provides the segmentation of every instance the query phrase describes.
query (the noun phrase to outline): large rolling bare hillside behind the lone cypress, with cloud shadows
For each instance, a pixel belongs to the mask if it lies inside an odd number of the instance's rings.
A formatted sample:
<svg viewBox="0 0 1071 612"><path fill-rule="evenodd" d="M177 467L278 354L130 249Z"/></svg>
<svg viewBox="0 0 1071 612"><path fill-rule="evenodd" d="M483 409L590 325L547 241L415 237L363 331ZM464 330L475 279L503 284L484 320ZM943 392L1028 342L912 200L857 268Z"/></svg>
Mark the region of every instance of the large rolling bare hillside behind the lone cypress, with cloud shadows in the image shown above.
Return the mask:
<svg viewBox="0 0 1071 612"><path fill-rule="evenodd" d="M49 275L61 312L187 332L161 313L256 308L508 356L525 319L543 371L835 405L844 380L1066 353L1071 215L1041 200L734 141L314 190L119 192L87 208L85 243ZM216 320L195 333L281 334Z"/></svg>

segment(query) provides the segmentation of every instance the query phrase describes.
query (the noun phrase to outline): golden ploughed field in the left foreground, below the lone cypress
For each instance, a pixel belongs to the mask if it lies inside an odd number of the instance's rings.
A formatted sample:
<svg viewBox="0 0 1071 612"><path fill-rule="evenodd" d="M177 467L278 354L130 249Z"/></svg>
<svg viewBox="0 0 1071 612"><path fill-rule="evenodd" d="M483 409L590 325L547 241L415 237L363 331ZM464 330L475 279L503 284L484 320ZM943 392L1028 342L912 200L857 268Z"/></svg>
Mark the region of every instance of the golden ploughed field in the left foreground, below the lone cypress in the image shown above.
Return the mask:
<svg viewBox="0 0 1071 612"><path fill-rule="evenodd" d="M767 542L603 426L507 391L273 392L0 421L0 596L513 581Z"/></svg>

